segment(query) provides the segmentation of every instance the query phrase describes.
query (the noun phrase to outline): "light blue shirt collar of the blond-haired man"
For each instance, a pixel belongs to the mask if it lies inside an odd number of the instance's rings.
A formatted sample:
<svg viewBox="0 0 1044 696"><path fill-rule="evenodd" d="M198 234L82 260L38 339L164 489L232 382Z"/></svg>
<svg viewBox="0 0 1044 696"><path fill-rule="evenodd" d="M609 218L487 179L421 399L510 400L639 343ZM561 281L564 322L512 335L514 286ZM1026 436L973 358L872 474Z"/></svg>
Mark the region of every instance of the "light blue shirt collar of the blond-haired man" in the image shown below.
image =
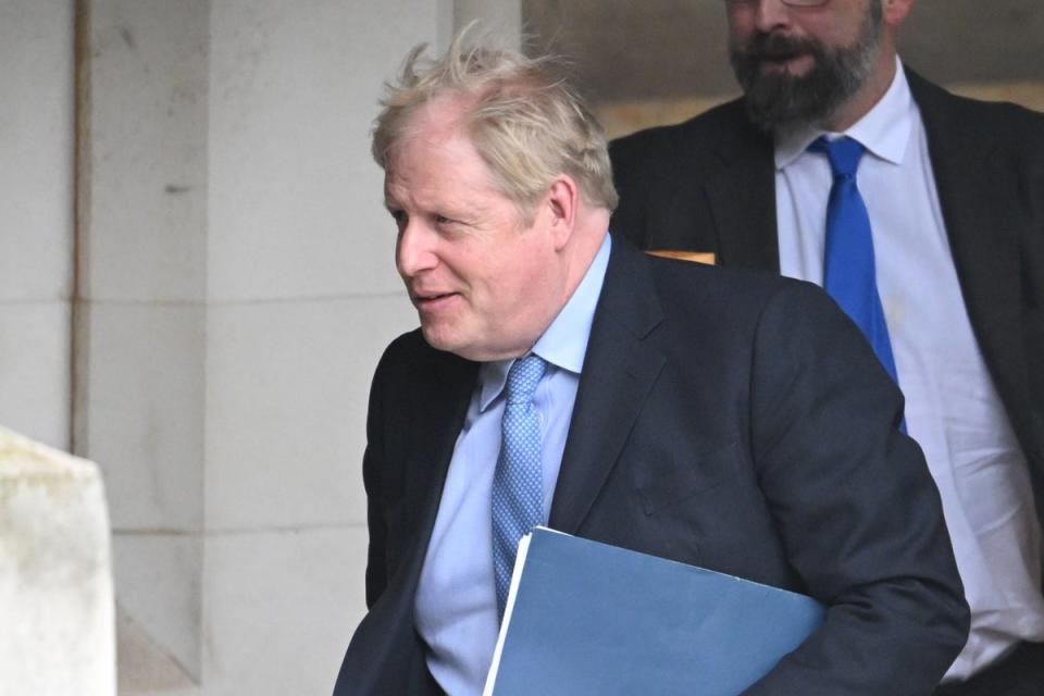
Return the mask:
<svg viewBox="0 0 1044 696"><path fill-rule="evenodd" d="M601 285L606 279L611 249L611 237L606 235L573 296L533 346L531 352L547 361L548 371L559 369L580 374L584 356L587 355L587 339L591 337L591 325L595 319L598 296L601 295ZM480 410L485 411L500 395L508 380L508 370L513 363L514 359L483 363L478 371L482 383Z"/></svg>

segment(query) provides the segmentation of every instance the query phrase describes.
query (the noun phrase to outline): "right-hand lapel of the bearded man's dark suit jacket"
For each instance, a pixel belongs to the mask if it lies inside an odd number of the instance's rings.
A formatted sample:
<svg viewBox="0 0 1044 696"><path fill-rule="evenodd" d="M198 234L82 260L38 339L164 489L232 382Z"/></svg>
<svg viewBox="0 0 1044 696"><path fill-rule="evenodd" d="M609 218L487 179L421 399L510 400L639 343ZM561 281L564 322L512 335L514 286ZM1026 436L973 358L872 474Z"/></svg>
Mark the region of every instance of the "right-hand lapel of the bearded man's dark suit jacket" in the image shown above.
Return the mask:
<svg viewBox="0 0 1044 696"><path fill-rule="evenodd" d="M1009 412L1024 412L1028 376L1020 336L1018 182L994 157L996 137L969 122L959 101L907 70L954 264L975 338Z"/></svg>

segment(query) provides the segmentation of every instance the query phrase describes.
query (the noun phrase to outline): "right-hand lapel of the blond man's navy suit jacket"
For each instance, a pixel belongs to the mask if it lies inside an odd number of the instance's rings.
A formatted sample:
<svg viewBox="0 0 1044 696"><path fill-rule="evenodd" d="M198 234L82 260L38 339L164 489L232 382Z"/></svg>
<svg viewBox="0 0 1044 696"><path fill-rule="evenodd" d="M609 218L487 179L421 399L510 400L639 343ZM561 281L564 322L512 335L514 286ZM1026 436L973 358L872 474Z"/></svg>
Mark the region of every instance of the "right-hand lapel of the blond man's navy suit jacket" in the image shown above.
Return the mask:
<svg viewBox="0 0 1044 696"><path fill-rule="evenodd" d="M645 341L663 319L646 264L613 239L551 505L549 524L562 532L587 515L663 366Z"/></svg>

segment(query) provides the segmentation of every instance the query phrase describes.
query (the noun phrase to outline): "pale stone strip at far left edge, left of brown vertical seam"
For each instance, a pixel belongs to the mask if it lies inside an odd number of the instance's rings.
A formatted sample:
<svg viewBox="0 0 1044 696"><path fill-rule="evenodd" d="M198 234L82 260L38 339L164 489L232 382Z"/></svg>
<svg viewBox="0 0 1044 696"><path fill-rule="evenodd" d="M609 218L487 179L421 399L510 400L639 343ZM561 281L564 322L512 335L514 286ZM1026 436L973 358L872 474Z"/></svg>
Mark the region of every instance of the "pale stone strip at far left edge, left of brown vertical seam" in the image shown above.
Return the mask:
<svg viewBox="0 0 1044 696"><path fill-rule="evenodd" d="M0 2L0 423L70 445L73 9Z"/></svg>

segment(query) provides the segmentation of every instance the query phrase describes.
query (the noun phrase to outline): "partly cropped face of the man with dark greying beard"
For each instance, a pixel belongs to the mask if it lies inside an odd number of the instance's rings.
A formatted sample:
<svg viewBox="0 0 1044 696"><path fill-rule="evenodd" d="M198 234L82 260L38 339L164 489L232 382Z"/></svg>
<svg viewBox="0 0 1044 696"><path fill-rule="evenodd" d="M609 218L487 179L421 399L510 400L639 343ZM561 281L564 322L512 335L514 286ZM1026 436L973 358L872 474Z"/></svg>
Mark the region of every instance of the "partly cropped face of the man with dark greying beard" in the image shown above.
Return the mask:
<svg viewBox="0 0 1044 696"><path fill-rule="evenodd" d="M856 95L881 59L880 0L726 2L729 50L748 113L771 129L817 124Z"/></svg>

